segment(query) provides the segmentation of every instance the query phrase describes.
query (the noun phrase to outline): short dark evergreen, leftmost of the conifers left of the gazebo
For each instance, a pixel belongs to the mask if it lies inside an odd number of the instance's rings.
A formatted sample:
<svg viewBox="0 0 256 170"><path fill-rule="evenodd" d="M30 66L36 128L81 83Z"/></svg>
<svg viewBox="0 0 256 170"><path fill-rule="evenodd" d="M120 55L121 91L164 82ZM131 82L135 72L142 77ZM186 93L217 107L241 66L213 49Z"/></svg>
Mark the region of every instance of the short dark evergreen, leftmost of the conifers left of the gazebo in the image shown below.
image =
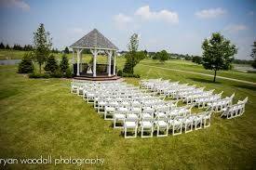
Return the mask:
<svg viewBox="0 0 256 170"><path fill-rule="evenodd" d="M31 73L34 72L34 64L32 62L33 53L25 53L23 59L21 59L18 67L19 73Z"/></svg>

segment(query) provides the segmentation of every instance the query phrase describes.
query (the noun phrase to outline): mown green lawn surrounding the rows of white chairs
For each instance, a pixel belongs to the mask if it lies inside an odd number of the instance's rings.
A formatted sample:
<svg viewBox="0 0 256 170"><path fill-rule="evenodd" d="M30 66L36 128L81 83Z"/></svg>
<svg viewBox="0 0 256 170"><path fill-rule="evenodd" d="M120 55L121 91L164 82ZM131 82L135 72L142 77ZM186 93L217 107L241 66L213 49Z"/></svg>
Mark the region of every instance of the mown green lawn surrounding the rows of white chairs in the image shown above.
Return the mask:
<svg viewBox="0 0 256 170"><path fill-rule="evenodd" d="M101 57L102 58L102 57ZM100 58L100 60L101 60ZM148 62L147 60L141 63ZM124 59L118 59L122 68ZM164 67L168 67L168 64ZM186 68L184 68L186 69ZM70 94L70 80L28 79L17 66L0 66L0 158L104 158L103 166L12 164L7 169L252 169L256 160L256 87L191 73L135 68L141 78L158 78L236 92L249 97L243 116L223 120L214 114L207 129L177 137L125 139L82 98ZM139 80L128 78L130 84ZM235 101L235 102L236 102Z"/></svg>

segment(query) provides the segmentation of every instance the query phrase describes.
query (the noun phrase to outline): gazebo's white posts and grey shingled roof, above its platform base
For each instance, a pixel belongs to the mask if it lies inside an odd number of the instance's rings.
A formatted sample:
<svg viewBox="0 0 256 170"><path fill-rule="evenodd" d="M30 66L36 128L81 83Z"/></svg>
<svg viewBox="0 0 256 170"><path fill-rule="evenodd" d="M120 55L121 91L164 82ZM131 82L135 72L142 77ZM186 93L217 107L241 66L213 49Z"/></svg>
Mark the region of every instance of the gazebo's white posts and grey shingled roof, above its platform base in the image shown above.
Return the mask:
<svg viewBox="0 0 256 170"><path fill-rule="evenodd" d="M72 46L73 49L73 64L74 64L74 53L77 56L77 64L76 68L74 68L74 72L76 76L91 76L97 77L97 56L99 53L105 53L108 55L108 64L106 68L106 72L104 72L105 76L111 77L115 76L115 56L116 50L118 49L111 41L109 41L104 35L102 35L97 29L92 30L84 37L76 41ZM91 68L88 67L86 72L82 72L82 51L84 49L89 49L91 54L93 55L93 65L92 71ZM112 64L113 60L113 64ZM113 67L112 67L113 66ZM100 75L99 75L100 76Z"/></svg>

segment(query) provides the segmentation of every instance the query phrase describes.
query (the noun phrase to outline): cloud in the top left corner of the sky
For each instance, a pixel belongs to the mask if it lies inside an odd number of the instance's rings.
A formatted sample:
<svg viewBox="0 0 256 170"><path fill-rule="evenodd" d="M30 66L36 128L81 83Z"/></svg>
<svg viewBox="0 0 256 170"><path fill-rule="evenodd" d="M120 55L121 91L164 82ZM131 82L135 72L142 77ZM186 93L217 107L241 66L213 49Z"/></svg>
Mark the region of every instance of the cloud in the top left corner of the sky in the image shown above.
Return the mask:
<svg viewBox="0 0 256 170"><path fill-rule="evenodd" d="M30 10L30 6L22 0L0 0L1 7L18 7L23 11Z"/></svg>

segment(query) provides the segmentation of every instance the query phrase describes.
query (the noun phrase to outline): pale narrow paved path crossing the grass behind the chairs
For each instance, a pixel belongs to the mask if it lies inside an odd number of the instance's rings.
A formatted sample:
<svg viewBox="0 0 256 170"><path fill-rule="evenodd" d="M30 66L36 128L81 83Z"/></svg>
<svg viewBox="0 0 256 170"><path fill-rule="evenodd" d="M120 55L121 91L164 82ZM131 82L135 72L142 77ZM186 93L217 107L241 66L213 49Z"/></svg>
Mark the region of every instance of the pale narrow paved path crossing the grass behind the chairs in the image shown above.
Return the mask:
<svg viewBox="0 0 256 170"><path fill-rule="evenodd" d="M147 67L152 67L152 68L157 68L157 69L168 70L168 71L187 72L187 73L194 73L194 74L197 74L197 75L204 75L204 76L213 77L213 75L208 74L208 73L190 72L190 71L183 71L183 70L179 70L179 69L169 69L169 68L151 66L151 65L147 65L147 64L140 64L140 65L147 66ZM249 82L249 81L239 80L239 79L234 79L234 78L229 78L229 77L222 77L222 76L219 76L219 75L217 75L216 78L231 80L231 81L240 82L240 83L249 84L249 85L256 85L256 83L254 83L254 82Z"/></svg>

